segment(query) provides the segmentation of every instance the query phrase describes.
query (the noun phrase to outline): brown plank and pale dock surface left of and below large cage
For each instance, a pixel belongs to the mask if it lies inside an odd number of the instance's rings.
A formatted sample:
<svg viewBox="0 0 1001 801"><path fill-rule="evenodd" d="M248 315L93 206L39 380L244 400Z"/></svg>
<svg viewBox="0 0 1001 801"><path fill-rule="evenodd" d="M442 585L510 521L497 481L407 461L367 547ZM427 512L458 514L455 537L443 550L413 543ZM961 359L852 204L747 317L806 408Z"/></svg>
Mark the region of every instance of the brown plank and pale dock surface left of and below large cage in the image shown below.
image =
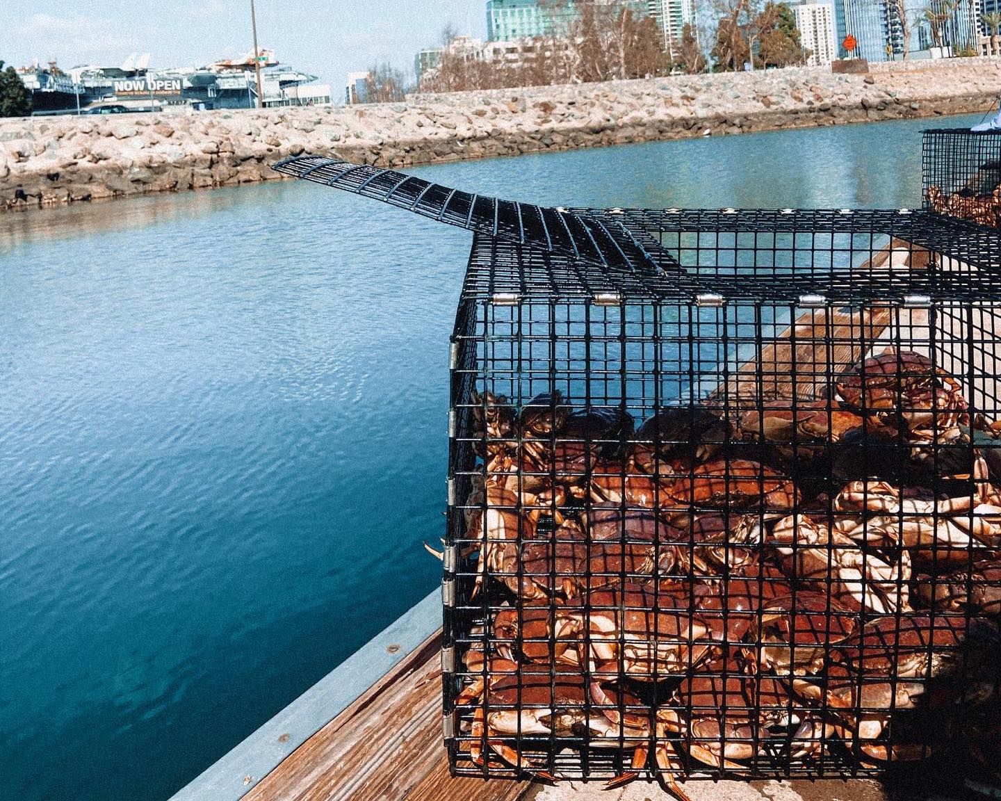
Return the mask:
<svg viewBox="0 0 1001 801"><path fill-rule="evenodd" d="M441 740L440 632L244 796L244 801L677 801L660 785L636 781L617 789L604 782L451 778ZM692 801L951 801L954 792L915 769L910 779L843 781L690 780ZM955 777L949 777L955 778ZM980 796L983 797L983 796ZM999 796L1001 797L1001 796ZM207 801L207 800L206 800Z"/></svg>

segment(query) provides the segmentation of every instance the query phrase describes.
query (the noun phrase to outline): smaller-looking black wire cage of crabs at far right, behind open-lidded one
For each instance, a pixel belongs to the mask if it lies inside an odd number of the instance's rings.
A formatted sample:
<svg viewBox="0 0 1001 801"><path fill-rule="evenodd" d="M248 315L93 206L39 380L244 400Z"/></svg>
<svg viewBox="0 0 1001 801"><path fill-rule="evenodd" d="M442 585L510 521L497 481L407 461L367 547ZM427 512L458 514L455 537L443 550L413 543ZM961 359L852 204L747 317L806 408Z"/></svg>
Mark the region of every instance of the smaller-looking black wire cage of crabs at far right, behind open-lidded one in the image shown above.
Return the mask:
<svg viewBox="0 0 1001 801"><path fill-rule="evenodd" d="M924 133L925 207L1001 228L1001 131Z"/></svg>

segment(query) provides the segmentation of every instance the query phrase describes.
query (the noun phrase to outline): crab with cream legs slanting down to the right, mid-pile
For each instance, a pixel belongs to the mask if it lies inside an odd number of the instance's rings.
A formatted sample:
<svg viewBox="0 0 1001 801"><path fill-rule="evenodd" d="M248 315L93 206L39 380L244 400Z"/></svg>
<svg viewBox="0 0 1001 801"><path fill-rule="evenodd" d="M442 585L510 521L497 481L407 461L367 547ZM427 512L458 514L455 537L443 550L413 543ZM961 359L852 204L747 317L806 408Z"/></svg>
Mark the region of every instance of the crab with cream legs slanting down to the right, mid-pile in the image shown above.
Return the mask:
<svg viewBox="0 0 1001 801"><path fill-rule="evenodd" d="M846 609L886 615L908 609L911 561L901 548L864 552L849 537L806 515L783 518L769 545L785 574L808 589L830 588Z"/></svg>

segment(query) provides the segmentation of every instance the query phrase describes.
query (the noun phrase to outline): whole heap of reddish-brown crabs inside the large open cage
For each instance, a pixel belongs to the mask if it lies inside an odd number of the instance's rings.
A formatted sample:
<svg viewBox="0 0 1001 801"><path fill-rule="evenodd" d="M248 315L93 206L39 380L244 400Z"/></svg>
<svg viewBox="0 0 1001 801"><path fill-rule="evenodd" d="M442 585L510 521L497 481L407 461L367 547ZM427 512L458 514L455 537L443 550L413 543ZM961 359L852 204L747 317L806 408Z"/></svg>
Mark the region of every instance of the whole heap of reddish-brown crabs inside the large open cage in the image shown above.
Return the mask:
<svg viewBox="0 0 1001 801"><path fill-rule="evenodd" d="M916 352L822 394L639 426L558 392L474 396L472 762L555 780L556 751L611 753L613 784L649 768L684 796L700 765L876 766L966 730L996 758L1001 427Z"/></svg>

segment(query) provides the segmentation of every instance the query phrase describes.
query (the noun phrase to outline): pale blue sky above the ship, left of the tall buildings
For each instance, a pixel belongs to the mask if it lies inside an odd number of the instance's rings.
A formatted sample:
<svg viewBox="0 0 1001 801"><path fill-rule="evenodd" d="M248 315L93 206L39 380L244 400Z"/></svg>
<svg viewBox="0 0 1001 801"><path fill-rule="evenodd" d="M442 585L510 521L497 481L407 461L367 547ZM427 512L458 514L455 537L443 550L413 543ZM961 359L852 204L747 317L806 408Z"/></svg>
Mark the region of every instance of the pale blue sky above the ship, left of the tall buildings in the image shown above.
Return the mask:
<svg viewBox="0 0 1001 801"><path fill-rule="evenodd" d="M257 40L283 64L334 87L346 74L389 61L412 70L413 55L453 23L482 37L484 0L255 0ZM151 68L202 66L253 49L250 0L0 0L0 60L121 64L151 54ZM335 93L336 94L336 93Z"/></svg>

